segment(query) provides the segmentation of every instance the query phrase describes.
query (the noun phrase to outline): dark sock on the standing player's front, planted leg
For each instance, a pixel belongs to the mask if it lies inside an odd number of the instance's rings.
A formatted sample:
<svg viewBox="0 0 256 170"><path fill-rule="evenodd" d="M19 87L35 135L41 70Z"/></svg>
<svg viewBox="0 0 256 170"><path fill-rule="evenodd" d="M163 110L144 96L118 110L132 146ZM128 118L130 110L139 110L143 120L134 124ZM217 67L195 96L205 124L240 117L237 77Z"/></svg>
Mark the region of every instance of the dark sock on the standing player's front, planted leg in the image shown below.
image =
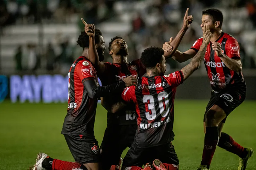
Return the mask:
<svg viewBox="0 0 256 170"><path fill-rule="evenodd" d="M210 169L211 160L214 156L218 139L218 127L206 127L201 165L206 165L208 169Z"/></svg>

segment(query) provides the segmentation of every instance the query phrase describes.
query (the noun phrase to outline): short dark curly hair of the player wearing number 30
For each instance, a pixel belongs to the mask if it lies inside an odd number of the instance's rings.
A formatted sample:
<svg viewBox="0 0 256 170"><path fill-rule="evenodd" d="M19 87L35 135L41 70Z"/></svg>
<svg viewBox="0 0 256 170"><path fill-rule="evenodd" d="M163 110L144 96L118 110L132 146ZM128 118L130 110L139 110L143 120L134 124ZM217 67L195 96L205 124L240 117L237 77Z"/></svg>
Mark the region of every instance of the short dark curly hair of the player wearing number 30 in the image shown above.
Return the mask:
<svg viewBox="0 0 256 170"><path fill-rule="evenodd" d="M154 68L163 59L164 50L158 47L149 47L141 53L141 63L146 68Z"/></svg>

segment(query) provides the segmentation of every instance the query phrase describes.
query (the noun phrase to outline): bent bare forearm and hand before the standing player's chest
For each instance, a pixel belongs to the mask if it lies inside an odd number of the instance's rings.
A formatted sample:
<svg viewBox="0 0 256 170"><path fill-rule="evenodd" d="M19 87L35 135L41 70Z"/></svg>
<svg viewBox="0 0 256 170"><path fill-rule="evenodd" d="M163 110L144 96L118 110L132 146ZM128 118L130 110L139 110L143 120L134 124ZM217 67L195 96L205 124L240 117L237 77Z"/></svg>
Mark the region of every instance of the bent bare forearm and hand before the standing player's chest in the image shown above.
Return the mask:
<svg viewBox="0 0 256 170"><path fill-rule="evenodd" d="M212 43L212 49L215 50L215 53L218 57L224 62L224 64L234 72L242 71L242 63L240 59L232 59L228 57L226 54L222 53L221 45L218 42Z"/></svg>

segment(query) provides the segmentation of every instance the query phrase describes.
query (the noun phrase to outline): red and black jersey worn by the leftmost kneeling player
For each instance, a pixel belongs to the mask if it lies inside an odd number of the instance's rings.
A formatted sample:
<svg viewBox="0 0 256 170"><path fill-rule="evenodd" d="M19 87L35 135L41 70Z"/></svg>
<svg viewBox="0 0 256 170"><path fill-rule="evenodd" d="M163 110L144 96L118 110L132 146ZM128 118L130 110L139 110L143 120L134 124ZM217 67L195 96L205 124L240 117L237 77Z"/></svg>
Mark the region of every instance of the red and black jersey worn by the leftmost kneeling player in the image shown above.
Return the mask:
<svg viewBox="0 0 256 170"><path fill-rule="evenodd" d="M68 113L64 119L62 134L93 134L98 99L89 97L83 82L98 78L92 63L80 56L68 73Z"/></svg>

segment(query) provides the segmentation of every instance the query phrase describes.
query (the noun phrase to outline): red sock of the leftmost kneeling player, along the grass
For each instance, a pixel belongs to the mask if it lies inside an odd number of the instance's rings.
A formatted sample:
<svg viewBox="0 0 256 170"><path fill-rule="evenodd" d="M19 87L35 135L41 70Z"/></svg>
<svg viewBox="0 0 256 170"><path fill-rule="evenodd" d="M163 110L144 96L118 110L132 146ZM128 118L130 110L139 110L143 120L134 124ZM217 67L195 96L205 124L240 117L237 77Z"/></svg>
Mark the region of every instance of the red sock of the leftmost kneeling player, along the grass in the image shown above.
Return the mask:
<svg viewBox="0 0 256 170"><path fill-rule="evenodd" d="M82 164L79 164L77 162L67 162L63 160L53 159L52 162L52 170L74 170L74 169L81 169L81 170L87 170L86 168L82 169L82 167L85 167Z"/></svg>

